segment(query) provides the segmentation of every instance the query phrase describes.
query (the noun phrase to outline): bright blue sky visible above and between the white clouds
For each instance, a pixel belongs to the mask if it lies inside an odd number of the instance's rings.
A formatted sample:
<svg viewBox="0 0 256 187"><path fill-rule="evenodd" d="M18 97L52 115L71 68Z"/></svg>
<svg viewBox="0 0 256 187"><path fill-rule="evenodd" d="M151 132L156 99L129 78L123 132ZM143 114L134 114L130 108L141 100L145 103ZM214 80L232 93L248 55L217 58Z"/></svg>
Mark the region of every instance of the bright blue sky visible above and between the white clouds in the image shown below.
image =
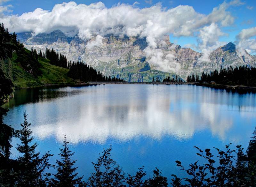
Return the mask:
<svg viewBox="0 0 256 187"><path fill-rule="evenodd" d="M2 0L3 1L3 0ZM6 1L6 0L5 0ZM236 0L235 0L236 1ZM1 0L0 0L1 2ZM12 7L9 9L10 12L4 12L5 15L22 15L25 12L34 11L36 8L41 8L43 10L52 11L52 8L55 4L61 4L63 2L69 2L69 1L63 1L63 0L9 0L7 2L3 2L2 6L6 6L11 4ZM77 4L86 4L89 5L91 3L95 3L97 1L93 0L75 0ZM102 0L107 8L111 8L113 6L116 6L118 3L125 3L125 4L134 4L135 1L131 0L123 0L123 1L109 1L109 0ZM189 5L192 6L193 9L204 15L208 15L212 12L214 7L218 7L220 4L222 4L224 1L222 0L214 0L214 1L205 1L205 0L167 0L167 1L156 1L156 0L138 0L138 3L136 4L136 7L139 7L141 9L145 7L151 7L154 4L161 3L162 7L166 7L166 9L171 9L174 7L177 7L178 5ZM230 1L227 1L230 2ZM227 12L230 12L232 17L234 17L234 22L231 25L228 26L221 26L220 30L225 33L225 35L220 35L218 38L218 41L220 42L229 42L229 41L236 41L236 35L238 35L242 29L248 29L256 26L256 1L255 0L241 0L240 4L237 6L230 6L227 8ZM185 13L185 12L184 12ZM199 31L198 31L199 32ZM195 34L193 36L176 36L174 37L172 33L170 34L170 40L173 43L180 44L182 47L187 46L187 44L190 45L192 48L194 46L198 46L198 40L200 38L196 37L197 31L195 31ZM252 39L255 39L255 36L252 37ZM200 49L197 49L200 50ZM255 51L252 50L252 53Z"/></svg>

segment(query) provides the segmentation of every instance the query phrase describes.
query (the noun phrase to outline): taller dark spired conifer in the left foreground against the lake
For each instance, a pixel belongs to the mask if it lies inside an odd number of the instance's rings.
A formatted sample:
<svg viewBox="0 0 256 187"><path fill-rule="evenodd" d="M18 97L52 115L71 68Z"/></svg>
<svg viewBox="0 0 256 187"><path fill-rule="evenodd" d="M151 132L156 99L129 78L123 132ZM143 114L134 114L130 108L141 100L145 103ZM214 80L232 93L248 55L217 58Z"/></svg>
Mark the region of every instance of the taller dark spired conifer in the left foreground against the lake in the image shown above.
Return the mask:
<svg viewBox="0 0 256 187"><path fill-rule="evenodd" d="M24 122L20 124L20 144L17 144L17 151L21 154L18 156L20 169L16 177L17 186L45 186L45 181L42 177L46 168L51 164L48 162L49 157L52 156L46 152L41 158L40 153L35 153L37 143L32 143L34 137L31 136L33 131L29 129L31 123L27 121L27 114L24 113Z"/></svg>

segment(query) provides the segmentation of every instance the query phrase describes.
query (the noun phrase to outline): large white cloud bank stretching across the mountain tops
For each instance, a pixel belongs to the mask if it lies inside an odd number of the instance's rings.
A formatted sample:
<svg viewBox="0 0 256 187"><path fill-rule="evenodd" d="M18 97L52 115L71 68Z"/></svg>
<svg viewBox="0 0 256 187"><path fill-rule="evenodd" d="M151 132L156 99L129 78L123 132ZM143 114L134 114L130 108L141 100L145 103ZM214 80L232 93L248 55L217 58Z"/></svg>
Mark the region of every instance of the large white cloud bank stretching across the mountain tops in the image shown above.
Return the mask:
<svg viewBox="0 0 256 187"><path fill-rule="evenodd" d="M148 1L148 3L152 3L152 1ZM96 44L100 45L101 37L107 34L146 37L148 50L156 51L157 45L163 41L165 34L173 34L175 37L197 37L198 32L206 32L204 29L212 24L215 27L218 26L219 29L232 25L234 17L227 10L230 6L238 6L243 3L239 0L224 2L213 8L208 15L196 12L192 6L188 5L179 5L167 9L161 3L147 8L134 6L136 4L119 3L107 8L102 2L89 5L68 2L56 4L52 11L37 8L33 12L26 12L20 16L4 15L0 17L0 22L3 22L11 32L15 31L16 33L31 32L36 35L60 29L65 34L78 33L78 36L84 40L97 36L98 40L88 44L89 47L95 47ZM219 30L217 29L217 31ZM218 34L220 32L217 32L214 36L218 36ZM204 43L203 35L199 34L200 46L212 49L209 48L209 45L210 47L214 46L212 38L209 39L211 41ZM200 46L199 48L203 49ZM148 51L147 54L152 54L152 52ZM147 57L151 57L151 59L167 57L166 61L160 60L166 65L166 69L178 68L176 64L173 66L173 63L171 63L168 66L168 63L166 63L173 62L171 56L157 53L155 56ZM159 65L160 67L163 69L162 65Z"/></svg>

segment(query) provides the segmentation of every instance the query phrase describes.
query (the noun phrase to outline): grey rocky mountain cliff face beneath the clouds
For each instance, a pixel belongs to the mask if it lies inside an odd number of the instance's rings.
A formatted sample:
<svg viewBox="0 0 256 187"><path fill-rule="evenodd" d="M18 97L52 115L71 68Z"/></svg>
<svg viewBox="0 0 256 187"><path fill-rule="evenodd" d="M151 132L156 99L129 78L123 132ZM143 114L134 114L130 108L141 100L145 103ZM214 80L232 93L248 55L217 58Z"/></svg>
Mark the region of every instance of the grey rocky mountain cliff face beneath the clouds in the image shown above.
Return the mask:
<svg viewBox="0 0 256 187"><path fill-rule="evenodd" d="M108 35L99 44L96 36L81 40L77 35L67 37L60 30L36 36L22 33L18 34L18 38L28 49L32 46L42 51L46 47L53 48L66 55L68 60L84 61L107 76L123 77L127 81L151 81L153 76L163 79L165 76L174 76L175 73L185 79L191 72L209 72L220 66L256 65L255 56L251 56L246 50L236 49L236 45L231 42L213 51L209 61L202 63L199 60L202 53L181 48L166 37L165 45L159 45L158 49L161 49L164 57L174 56L173 60L180 64L180 69L177 72L164 72L148 63L144 50L148 46L146 38Z"/></svg>

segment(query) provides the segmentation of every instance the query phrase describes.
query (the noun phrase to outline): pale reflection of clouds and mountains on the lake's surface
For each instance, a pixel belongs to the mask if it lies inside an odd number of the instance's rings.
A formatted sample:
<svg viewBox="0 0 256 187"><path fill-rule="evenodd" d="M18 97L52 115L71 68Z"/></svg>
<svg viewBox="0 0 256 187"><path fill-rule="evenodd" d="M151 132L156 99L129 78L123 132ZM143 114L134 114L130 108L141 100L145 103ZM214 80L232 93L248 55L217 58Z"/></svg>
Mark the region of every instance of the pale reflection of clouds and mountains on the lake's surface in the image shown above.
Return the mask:
<svg viewBox="0 0 256 187"><path fill-rule="evenodd" d="M27 103L27 104L24 104ZM21 105L23 104L23 105ZM24 89L10 102L7 124L19 128L26 110L38 139L63 138L104 144L136 137L178 140L210 130L220 140L239 141L236 123L255 123L256 96L189 85L100 85ZM230 133L233 126L236 131Z"/></svg>

